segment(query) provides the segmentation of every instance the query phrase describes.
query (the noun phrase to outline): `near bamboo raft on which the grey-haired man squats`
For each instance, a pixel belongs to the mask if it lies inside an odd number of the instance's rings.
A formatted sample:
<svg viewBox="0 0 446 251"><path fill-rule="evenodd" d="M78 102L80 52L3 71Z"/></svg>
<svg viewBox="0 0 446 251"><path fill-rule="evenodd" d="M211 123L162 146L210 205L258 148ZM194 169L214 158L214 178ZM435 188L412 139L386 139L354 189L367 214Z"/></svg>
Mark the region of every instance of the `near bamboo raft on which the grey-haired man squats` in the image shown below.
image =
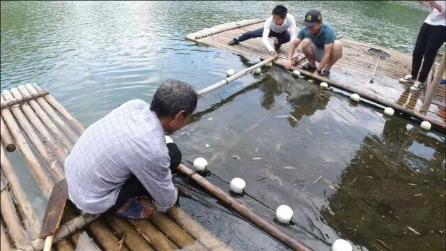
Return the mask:
<svg viewBox="0 0 446 251"><path fill-rule="evenodd" d="M0 98L1 250L42 250L45 240L37 237L41 215L33 211L5 144L11 151L17 146L48 199L54 183L64 178L63 164L85 128L36 84L4 90ZM67 203L54 250L75 250L83 232L102 250L230 250L177 206L169 213L154 210L148 220L85 219Z"/></svg>

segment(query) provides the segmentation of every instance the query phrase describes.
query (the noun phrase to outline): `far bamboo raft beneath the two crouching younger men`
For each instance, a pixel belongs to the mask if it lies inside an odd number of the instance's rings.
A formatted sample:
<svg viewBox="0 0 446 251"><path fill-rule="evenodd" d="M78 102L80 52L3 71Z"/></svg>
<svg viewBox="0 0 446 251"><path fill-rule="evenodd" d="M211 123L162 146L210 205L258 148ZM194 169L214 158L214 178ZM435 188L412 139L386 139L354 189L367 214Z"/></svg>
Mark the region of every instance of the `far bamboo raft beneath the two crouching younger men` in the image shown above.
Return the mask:
<svg viewBox="0 0 446 251"><path fill-rule="evenodd" d="M222 48L242 56L256 56L266 59L270 54L261 42L261 38L249 39L235 46L227 44L229 40L238 38L246 31L261 28L264 21L265 19L254 19L220 24L209 29L190 33L185 38L201 45ZM410 92L411 84L398 82L400 77L410 73L412 62L410 54L348 38L341 38L341 42L343 44L343 56L330 70L331 79L314 77L312 72L301 70L297 67L293 67L292 70L299 70L306 77L314 78L319 82L327 82L330 86L348 91L349 93L360 94L362 98L382 107L393 107L397 112L403 112L420 121L429 121L437 128L446 129L445 85L438 84L438 88L433 93L433 101L429 109L427 112L421 112L420 109L425 98L424 92ZM388 59L381 58L376 70L374 83L370 83L369 80L378 57L369 54L368 50L370 48L383 50L390 54ZM282 45L278 52L277 60L274 61L277 66L284 67L288 50L289 43ZM300 47L298 48L298 54L302 54ZM433 69L436 68L439 68L438 64L433 66ZM431 70L428 85L432 82L434 72L435 70ZM443 78L446 77L443 76Z"/></svg>

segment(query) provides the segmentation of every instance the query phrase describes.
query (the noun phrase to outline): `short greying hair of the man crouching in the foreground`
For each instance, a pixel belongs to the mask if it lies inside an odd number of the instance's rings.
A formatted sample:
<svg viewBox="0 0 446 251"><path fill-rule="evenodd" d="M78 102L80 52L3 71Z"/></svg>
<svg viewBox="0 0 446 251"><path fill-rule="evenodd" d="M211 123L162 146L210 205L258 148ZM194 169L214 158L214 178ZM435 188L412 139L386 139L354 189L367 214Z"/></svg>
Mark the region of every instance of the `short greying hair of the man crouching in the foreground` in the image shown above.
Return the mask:
<svg viewBox="0 0 446 251"><path fill-rule="evenodd" d="M167 79L158 87L153 96L151 110L157 116L174 116L181 110L185 116L190 116L197 108L197 93L185 82Z"/></svg>

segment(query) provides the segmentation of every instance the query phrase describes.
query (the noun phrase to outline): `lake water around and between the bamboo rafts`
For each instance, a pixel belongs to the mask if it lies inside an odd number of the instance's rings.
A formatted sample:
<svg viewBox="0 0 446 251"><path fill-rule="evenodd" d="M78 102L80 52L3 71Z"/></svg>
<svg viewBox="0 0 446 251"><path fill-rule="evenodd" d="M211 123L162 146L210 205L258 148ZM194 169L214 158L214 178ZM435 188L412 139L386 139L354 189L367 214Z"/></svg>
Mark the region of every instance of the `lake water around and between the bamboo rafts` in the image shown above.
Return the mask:
<svg viewBox="0 0 446 251"><path fill-rule="evenodd" d="M1 90L36 82L89 126L122 102L151 102L165 79L196 89L259 59L184 40L224 22L268 17L279 2L1 1ZM345 37L410 53L427 12L416 1L287 2L296 20L321 10ZM299 22L299 21L298 21ZM199 100L171 135L183 161L209 161L209 181L315 250L344 238L355 250L445 250L445 135L263 68ZM38 215L46 201L20 153L10 154ZM191 166L191 165L190 165ZM185 211L233 250L286 248L187 181ZM414 234L408 227L415 229Z"/></svg>

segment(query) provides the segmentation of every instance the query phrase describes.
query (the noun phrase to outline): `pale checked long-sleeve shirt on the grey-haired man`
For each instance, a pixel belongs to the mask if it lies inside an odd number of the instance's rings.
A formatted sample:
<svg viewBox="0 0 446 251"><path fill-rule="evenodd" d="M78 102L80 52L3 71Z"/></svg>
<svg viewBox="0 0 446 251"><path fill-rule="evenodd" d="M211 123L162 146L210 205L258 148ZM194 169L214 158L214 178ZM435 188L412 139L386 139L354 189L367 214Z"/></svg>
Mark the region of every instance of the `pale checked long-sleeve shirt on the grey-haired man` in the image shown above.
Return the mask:
<svg viewBox="0 0 446 251"><path fill-rule="evenodd" d="M85 213L103 213L132 174L159 211L174 206L164 130L150 105L130 100L82 133L65 162L70 200Z"/></svg>

